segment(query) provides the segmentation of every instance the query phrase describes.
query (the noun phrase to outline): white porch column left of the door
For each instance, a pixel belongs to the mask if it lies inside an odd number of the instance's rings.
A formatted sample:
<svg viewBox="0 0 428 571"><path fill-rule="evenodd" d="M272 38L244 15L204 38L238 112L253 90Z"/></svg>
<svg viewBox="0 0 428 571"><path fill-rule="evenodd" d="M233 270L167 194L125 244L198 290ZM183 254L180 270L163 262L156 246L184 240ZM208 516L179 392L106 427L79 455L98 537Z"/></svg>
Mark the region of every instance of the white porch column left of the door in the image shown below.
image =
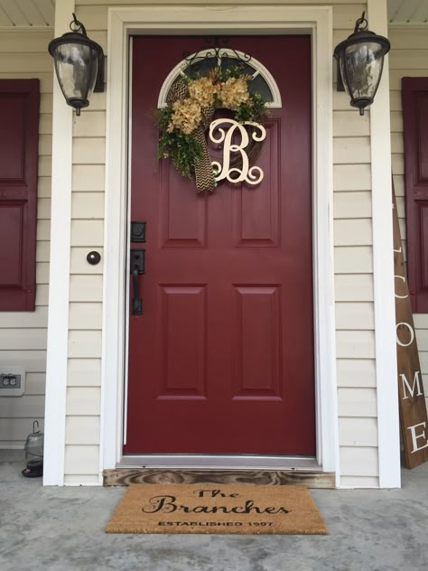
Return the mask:
<svg viewBox="0 0 428 571"><path fill-rule="evenodd" d="M69 32L74 0L60 0L55 37ZM48 46L46 46L46 50ZM52 61L52 73L53 61ZM64 483L67 357L69 344L72 110L53 78L51 257L44 421L43 485Z"/></svg>

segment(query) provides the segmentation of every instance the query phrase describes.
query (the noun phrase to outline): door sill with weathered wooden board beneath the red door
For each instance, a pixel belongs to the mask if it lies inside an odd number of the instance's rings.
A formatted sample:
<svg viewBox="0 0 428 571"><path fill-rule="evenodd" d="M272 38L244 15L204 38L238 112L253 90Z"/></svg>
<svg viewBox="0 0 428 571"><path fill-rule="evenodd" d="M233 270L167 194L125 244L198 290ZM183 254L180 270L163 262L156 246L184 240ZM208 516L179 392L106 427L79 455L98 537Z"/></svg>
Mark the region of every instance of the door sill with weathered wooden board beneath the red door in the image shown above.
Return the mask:
<svg viewBox="0 0 428 571"><path fill-rule="evenodd" d="M284 456L124 456L114 470L103 472L105 486L130 483L304 484L335 488L335 473L322 472L315 458Z"/></svg>

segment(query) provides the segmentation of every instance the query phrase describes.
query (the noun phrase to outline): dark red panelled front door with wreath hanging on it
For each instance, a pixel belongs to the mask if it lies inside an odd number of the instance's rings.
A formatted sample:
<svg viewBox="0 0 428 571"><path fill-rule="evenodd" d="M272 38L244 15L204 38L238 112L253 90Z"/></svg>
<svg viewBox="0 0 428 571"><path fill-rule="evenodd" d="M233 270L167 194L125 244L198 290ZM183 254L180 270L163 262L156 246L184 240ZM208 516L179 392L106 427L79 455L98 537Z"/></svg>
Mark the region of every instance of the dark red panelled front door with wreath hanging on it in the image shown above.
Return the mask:
<svg viewBox="0 0 428 571"><path fill-rule="evenodd" d="M311 40L237 36L283 107L256 187L198 195L156 160L163 80L203 39L137 37L131 220L146 222L144 314L129 319L126 454L315 454ZM132 298L132 290L130 291Z"/></svg>

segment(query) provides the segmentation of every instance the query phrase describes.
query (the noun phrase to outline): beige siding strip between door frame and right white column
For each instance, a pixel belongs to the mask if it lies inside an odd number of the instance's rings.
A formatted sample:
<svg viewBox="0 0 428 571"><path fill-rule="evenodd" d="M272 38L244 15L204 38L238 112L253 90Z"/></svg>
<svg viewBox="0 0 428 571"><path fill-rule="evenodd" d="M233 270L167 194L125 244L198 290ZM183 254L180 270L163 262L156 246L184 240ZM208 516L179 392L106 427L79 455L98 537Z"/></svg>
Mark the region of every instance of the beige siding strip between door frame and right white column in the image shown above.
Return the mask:
<svg viewBox="0 0 428 571"><path fill-rule="evenodd" d="M354 16L356 6L348 9ZM333 43L352 31L335 30ZM337 91L333 109L340 485L370 488L378 486L370 114L359 117Z"/></svg>

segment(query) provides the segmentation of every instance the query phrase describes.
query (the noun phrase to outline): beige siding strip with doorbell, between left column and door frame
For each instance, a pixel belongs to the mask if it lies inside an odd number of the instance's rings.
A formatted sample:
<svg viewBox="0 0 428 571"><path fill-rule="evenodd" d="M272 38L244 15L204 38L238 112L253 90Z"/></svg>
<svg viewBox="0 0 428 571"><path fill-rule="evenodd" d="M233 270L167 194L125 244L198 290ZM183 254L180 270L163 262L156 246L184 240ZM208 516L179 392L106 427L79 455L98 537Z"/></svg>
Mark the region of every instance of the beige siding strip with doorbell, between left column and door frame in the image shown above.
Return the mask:
<svg viewBox="0 0 428 571"><path fill-rule="evenodd" d="M91 37L107 48L107 33ZM68 485L99 483L106 94L94 96L73 125L64 481ZM97 266L87 261L94 249L101 254Z"/></svg>

